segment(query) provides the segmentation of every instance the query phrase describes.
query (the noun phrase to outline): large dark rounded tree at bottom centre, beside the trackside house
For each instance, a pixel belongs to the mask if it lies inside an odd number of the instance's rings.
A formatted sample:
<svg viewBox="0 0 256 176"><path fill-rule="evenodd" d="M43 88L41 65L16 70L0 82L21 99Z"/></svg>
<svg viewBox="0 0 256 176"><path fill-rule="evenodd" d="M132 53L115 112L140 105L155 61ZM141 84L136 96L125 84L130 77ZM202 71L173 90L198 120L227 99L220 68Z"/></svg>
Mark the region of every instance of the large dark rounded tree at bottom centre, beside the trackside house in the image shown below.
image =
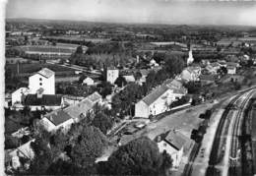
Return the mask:
<svg viewBox="0 0 256 176"><path fill-rule="evenodd" d="M170 156L161 154L155 142L141 137L114 151L104 170L114 175L162 175L171 163Z"/></svg>

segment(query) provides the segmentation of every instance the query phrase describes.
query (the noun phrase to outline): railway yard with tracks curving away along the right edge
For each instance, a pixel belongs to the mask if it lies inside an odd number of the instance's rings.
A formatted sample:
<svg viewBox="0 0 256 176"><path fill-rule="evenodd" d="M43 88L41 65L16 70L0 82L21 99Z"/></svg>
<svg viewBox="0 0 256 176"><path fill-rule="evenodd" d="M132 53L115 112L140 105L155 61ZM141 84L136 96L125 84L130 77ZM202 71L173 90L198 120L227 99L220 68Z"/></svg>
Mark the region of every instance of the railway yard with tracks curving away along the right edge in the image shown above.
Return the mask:
<svg viewBox="0 0 256 176"><path fill-rule="evenodd" d="M239 92L215 109L204 140L194 146L183 175L253 175L250 122L254 95L255 89Z"/></svg>

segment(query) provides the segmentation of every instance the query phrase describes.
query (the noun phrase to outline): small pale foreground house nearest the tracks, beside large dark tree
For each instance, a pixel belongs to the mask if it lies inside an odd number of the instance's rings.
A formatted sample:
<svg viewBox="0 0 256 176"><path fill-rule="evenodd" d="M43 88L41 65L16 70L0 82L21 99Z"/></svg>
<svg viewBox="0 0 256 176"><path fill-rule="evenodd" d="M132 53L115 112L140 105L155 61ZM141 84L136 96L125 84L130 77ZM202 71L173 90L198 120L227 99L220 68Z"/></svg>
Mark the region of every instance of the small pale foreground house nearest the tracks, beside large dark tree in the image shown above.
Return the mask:
<svg viewBox="0 0 256 176"><path fill-rule="evenodd" d="M188 139L182 134L171 130L158 136L155 141L158 143L160 152L165 150L173 159L172 169L178 169Z"/></svg>

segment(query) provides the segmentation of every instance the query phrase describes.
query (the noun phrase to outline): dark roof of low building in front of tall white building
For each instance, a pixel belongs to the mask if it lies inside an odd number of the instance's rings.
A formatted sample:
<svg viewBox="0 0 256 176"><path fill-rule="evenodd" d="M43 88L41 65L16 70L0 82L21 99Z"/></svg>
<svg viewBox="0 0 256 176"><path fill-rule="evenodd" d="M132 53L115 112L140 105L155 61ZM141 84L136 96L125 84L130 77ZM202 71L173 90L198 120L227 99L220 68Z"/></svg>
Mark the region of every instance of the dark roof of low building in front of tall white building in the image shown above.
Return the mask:
<svg viewBox="0 0 256 176"><path fill-rule="evenodd" d="M61 95L42 94L41 98L37 98L36 94L28 94L24 104L28 106L59 106L61 105Z"/></svg>

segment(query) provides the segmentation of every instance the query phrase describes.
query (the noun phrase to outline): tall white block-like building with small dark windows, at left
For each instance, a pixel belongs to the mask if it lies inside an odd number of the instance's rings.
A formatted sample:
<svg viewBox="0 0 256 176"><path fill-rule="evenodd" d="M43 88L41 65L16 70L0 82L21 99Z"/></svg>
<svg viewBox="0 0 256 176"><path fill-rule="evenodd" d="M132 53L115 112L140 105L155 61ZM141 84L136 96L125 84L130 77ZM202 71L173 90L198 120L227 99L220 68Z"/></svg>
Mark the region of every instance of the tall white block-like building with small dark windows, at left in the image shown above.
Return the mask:
<svg viewBox="0 0 256 176"><path fill-rule="evenodd" d="M41 69L29 78L29 88L31 93L43 88L44 94L55 94L55 73L47 68Z"/></svg>

